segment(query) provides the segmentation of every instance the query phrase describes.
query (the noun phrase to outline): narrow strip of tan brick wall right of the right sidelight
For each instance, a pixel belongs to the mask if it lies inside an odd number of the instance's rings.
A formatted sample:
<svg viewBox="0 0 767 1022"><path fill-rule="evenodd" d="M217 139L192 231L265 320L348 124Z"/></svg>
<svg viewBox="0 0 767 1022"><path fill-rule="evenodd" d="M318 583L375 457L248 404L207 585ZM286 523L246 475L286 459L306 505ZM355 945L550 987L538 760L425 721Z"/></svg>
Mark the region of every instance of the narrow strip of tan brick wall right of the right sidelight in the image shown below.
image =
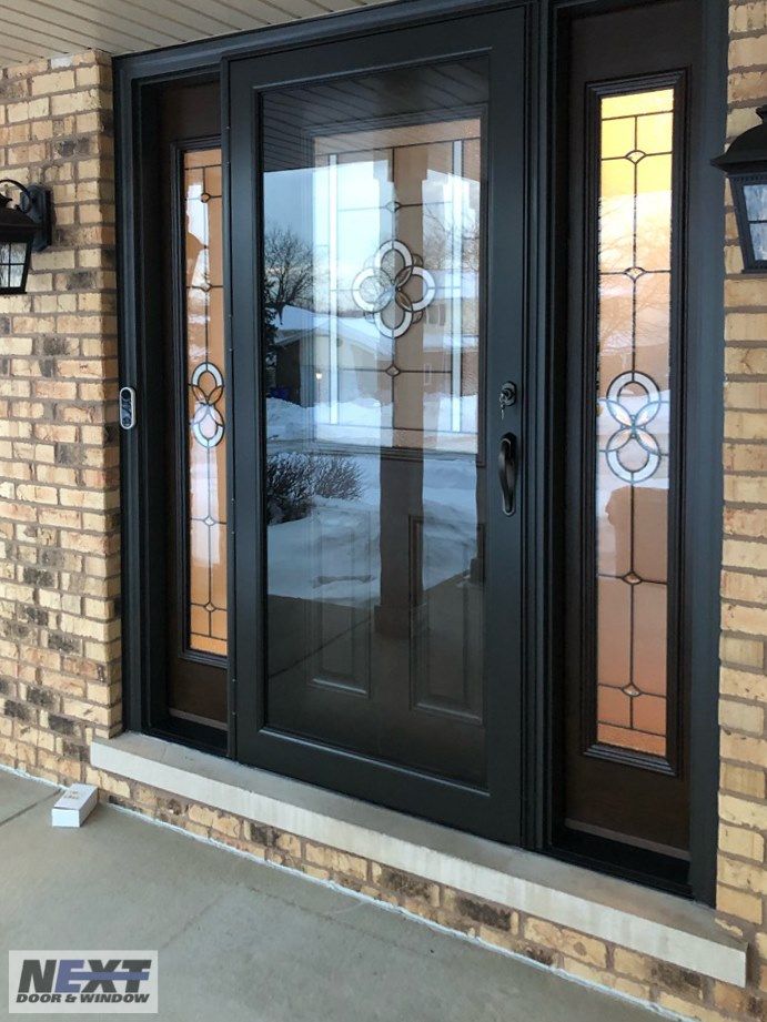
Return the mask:
<svg viewBox="0 0 767 1022"><path fill-rule="evenodd" d="M767 103L767 2L730 2L731 140ZM754 949L751 990L767 994L767 276L743 276L727 195L725 510L717 907ZM729 1006L729 1001L724 1006ZM735 1001L733 1003L736 1003ZM761 1011L765 1012L764 1000ZM760 1016L759 1016L760 1018Z"/></svg>

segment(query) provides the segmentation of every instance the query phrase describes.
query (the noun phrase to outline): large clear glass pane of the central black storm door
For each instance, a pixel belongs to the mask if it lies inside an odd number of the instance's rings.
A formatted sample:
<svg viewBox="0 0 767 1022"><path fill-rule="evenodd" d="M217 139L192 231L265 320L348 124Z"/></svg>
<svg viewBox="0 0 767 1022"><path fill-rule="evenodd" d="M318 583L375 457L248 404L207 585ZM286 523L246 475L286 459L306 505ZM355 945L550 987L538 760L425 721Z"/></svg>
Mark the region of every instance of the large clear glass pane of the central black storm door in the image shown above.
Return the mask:
<svg viewBox="0 0 767 1022"><path fill-rule="evenodd" d="M484 59L269 92L270 726L484 777Z"/></svg>

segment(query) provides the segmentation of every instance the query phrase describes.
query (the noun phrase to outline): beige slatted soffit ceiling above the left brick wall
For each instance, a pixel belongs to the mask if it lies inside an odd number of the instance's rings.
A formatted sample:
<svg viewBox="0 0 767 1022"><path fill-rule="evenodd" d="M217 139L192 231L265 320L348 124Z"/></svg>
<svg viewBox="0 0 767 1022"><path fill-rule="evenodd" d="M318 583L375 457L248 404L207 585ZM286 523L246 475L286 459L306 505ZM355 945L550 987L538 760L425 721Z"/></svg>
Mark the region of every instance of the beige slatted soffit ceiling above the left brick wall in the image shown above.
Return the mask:
<svg viewBox="0 0 767 1022"><path fill-rule="evenodd" d="M131 53L375 0L0 0L0 67L98 49Z"/></svg>

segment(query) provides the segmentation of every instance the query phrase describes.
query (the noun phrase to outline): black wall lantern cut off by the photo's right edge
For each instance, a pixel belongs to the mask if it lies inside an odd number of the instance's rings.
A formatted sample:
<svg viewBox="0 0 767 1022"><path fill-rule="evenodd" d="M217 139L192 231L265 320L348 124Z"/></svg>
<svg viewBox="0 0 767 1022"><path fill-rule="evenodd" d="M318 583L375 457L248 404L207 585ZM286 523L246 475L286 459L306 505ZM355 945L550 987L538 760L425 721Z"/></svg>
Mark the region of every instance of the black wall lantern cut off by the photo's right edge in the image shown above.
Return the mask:
<svg viewBox="0 0 767 1022"><path fill-rule="evenodd" d="M744 273L767 272L767 107L756 112L761 123L712 160L729 178Z"/></svg>

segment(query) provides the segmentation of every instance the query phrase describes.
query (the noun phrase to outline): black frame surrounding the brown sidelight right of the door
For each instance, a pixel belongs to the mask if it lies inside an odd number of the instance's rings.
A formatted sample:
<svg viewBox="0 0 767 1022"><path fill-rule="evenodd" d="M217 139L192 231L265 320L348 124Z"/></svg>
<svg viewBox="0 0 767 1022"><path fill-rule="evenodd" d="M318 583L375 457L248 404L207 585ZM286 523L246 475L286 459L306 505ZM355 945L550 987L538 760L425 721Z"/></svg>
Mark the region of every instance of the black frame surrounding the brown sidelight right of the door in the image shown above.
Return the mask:
<svg viewBox="0 0 767 1022"><path fill-rule="evenodd" d="M567 326L567 266L557 259L557 237L563 229L563 206L566 191L563 182L568 175L569 139L563 132L563 117L568 110L567 84L569 67L564 59L573 20L583 14L599 14L639 7L630 0L617 2L582 2L582 0L553 0L541 10L541 52L546 67L542 68L541 85L547 99L542 101L547 124L542 127L542 138L548 143L542 154L541 208L543 217L539 280L545 286L538 291L538 351L547 351L548 368L541 374L539 399L556 393L556 382L565 378L566 353L558 338L566 336ZM660 6L660 4L658 4ZM649 11L652 4L645 4ZM642 849L627 849L605 839L587 839L567 844L562 841L562 773L561 749L564 743L562 698L557 698L555 679L562 677L561 648L552 637L561 635L562 625L558 599L554 596L558 576L556 563L563 560L565 528L547 530L541 555L539 578L551 581L542 597L542 628L548 626L552 635L542 639L544 666L532 682L537 694L537 720L544 748L536 757L539 779L539 800L532 809L531 828L537 847L557 858L593 866L617 876L648 882L676 893L692 895L714 903L717 844L717 789L718 789L718 576L721 563L721 448L724 401L724 310L720 298L724 279L723 239L724 209L720 184L707 173L707 155L716 151L717 140L724 135L726 120L725 82L727 52L727 9L720 0L700 3L700 34L705 47L700 64L705 72L696 82L698 110L706 117L695 124L698 148L690 153L700 170L695 180L685 182L687 193L687 244L696 254L698 269L695 290L689 293L687 331L698 345L695 360L685 366L684 397L685 422L680 428L696 439L698 455L696 470L686 480L683 528L686 532L687 556L683 566L684 591L679 594L683 619L686 623L682 637L682 657L689 681L687 729L689 733L689 769L694 779L689 796L690 859L686 870L675 868L664 857ZM557 60L557 57L559 58ZM566 190L566 185L565 185ZM549 389L551 388L551 389ZM543 445L539 457L546 461L554 477L562 477L564 466L561 454L551 438L564 425L562 403L551 402L545 417L549 441ZM716 452L716 457L707 457ZM542 468L542 473L545 469ZM541 514L555 523L562 514L557 505L557 488L542 494ZM565 516L566 517L566 516ZM562 517L558 519L562 523ZM555 623L552 627L552 623ZM559 629L559 630L557 630Z"/></svg>

